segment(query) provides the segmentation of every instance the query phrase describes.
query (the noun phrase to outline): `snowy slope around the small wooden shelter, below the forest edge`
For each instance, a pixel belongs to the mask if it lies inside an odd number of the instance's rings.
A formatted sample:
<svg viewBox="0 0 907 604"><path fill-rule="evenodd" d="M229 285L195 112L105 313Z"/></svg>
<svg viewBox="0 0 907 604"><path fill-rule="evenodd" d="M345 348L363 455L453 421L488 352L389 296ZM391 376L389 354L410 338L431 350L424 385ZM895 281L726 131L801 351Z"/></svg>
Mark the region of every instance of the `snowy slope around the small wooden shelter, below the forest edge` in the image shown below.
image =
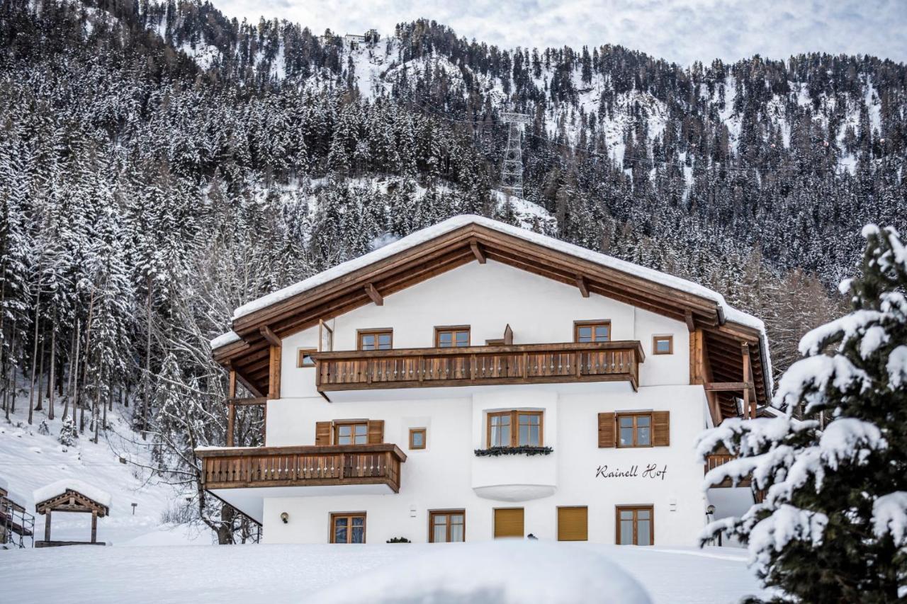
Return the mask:
<svg viewBox="0 0 907 604"><path fill-rule="evenodd" d="M99 443L92 443L86 430L74 445L63 446L57 440L62 411L59 402L54 421L48 421L44 412L35 412L31 425L26 422L27 394L19 396L16 407L9 424L0 414L0 479L26 511L34 514L35 490L57 481L78 480L110 493L112 498L110 516L98 521L98 541L117 545L210 543L212 533L207 529L163 523L164 511L171 509L178 494L168 484L147 479L149 472L141 466L149 462L151 441L141 441L116 411L108 415L110 430L101 433ZM86 415L86 425L87 420ZM48 434L40 434L42 422ZM127 463L121 463L121 457ZM132 503L137 504L134 513ZM51 536L54 540L88 541L91 526L87 514L54 514ZM43 538L44 516L35 518L35 534L37 539Z"/></svg>

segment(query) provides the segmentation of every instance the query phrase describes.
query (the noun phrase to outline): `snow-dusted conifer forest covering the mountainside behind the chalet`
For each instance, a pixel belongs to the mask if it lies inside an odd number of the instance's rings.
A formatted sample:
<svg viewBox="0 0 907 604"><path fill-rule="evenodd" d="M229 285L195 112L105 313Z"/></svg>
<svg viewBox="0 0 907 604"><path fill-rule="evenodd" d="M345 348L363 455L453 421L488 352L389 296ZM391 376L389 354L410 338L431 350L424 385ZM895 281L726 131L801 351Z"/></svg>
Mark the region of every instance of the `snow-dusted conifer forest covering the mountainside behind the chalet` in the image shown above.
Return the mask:
<svg viewBox="0 0 907 604"><path fill-rule="evenodd" d="M240 520L190 450L223 443L209 340L250 299L477 213L716 289L766 320L777 373L844 305L863 224L907 227L902 63L385 34L351 50L197 1L0 5L7 416L72 414L97 439L104 408L132 404L161 474L229 541ZM502 111L532 116L525 200L499 192ZM241 413L237 442L260 424Z"/></svg>

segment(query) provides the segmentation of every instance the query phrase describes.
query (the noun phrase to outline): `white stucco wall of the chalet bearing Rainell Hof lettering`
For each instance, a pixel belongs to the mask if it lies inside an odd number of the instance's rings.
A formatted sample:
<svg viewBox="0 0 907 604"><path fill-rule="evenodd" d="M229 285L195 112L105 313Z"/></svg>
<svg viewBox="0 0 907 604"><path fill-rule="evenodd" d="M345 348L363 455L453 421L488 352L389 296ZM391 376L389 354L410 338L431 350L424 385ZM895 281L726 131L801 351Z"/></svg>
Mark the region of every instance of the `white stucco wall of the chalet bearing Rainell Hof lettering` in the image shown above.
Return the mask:
<svg viewBox="0 0 907 604"><path fill-rule="evenodd" d="M689 384L688 328L683 322L489 260L454 268L328 322L333 349L355 350L357 329L393 329L394 348L434 346L435 326L471 328L471 344L571 342L574 321L610 320L612 340L639 340L646 354L639 390L627 382L482 385L448 388L316 390L315 369L297 367L300 348L317 348L318 328L282 340L280 397L268 402L267 446L312 445L316 423L383 420L385 443L407 455L400 491L373 487L280 487L244 490L258 500L264 540L322 543L330 517L365 512L366 541L429 540L429 512L463 510L465 539L492 539L497 508L522 508L524 531L558 538L558 508L586 506L590 541L614 542L616 508L652 506L658 545L693 545L707 517L703 466L693 451L706 427L701 385ZM673 353L653 355L653 336L672 336ZM479 457L490 412L541 411L548 455ZM600 448L601 413L669 412L668 446ZM426 446L410 450L409 431L424 428ZM612 475L629 473L631 475ZM239 494L239 493L237 493ZM287 521L283 521L286 514Z"/></svg>

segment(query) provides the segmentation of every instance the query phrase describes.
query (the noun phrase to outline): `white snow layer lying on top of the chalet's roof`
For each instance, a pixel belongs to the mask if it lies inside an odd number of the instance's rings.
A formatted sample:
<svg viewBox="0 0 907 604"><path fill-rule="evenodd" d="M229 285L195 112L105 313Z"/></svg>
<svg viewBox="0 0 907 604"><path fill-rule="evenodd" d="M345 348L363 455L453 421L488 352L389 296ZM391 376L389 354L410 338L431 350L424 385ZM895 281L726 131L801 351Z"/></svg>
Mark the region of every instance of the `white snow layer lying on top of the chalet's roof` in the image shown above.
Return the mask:
<svg viewBox="0 0 907 604"><path fill-rule="evenodd" d="M383 248L375 249L375 251L369 252L364 256L358 258L353 258L347 260L342 264L338 264L334 268L328 268L325 271L313 275L307 279L299 281L291 286L284 287L283 289L278 289L277 291L268 294L267 296L259 297L256 300L242 305L233 311L233 319L238 319L239 317L245 317L250 315L262 308L269 307L271 305L282 302L283 300L288 299L289 297L297 296L303 292L306 292L313 287L320 286L336 278L343 277L347 273L351 273L359 268L367 267L370 264L374 264L379 260L384 258L389 258L397 253L405 251L409 248L414 248L415 246L422 244L426 241L436 239L443 236L446 233L449 233L452 230L460 229L462 227L475 224L485 227L487 229L494 229L499 232L505 233L507 235L512 235L513 237L518 237L526 241L535 243L545 248L551 248L565 254L570 254L577 258L582 258L584 260L589 260L603 267L613 268L629 275L634 275L639 278L644 278L659 285L666 287L673 287L680 291L693 294L694 296L704 297L708 300L714 301L721 309L724 311L725 317L727 320L734 323L739 323L740 325L752 327L764 333L766 330L765 324L763 322L753 317L752 315L747 315L745 312L739 311L734 307L731 307L725 301L725 298L708 287L701 286L687 279L682 279L674 277L673 275L668 275L667 273L662 273L658 270L652 268L640 267L637 264L632 262L627 262L626 260L620 260L619 258L612 258L601 254L599 252L594 252L590 249L580 248L580 246L573 245L572 243L567 243L566 241L561 241L560 239L554 239L546 235L541 235L539 233L533 232L532 230L520 229L519 227L513 227L512 225L500 222L498 220L484 218L483 216L475 216L473 214L463 214L461 216L454 216L451 219L446 219L443 222L427 227L425 229L417 230L411 235L407 235L403 239L397 239L393 243L387 244ZM223 336L217 337L213 342L221 342L221 338L224 338L219 346L228 344L230 340L228 339L228 332ZM235 334L234 334L235 336ZM239 336L236 336L239 338Z"/></svg>

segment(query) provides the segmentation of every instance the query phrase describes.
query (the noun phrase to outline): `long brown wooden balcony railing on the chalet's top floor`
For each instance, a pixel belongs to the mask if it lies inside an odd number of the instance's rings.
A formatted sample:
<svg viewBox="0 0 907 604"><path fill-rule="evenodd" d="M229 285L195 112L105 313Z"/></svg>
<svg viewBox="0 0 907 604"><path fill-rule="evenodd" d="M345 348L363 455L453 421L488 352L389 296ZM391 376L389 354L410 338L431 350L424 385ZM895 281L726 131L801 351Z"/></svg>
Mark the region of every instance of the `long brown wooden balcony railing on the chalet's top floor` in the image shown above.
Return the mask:
<svg viewBox="0 0 907 604"><path fill-rule="evenodd" d="M639 386L639 341L353 350L312 355L319 392L489 384L628 381Z"/></svg>

